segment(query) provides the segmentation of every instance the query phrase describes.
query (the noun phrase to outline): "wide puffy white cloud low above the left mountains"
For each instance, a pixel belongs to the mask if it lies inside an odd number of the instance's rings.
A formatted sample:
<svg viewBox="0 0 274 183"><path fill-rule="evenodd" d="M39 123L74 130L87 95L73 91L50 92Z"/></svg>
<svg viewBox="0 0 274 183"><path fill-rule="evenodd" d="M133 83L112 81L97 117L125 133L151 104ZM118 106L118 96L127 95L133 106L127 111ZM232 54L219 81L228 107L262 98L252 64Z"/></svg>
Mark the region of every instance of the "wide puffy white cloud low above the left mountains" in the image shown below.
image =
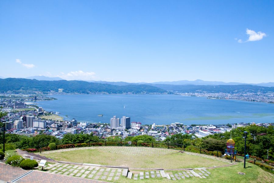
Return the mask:
<svg viewBox="0 0 274 183"><path fill-rule="evenodd" d="M96 74L94 72L84 72L82 70L79 71L71 71L67 74L61 72L61 75L57 75L57 77L61 77L65 80L92 80L96 78Z"/></svg>

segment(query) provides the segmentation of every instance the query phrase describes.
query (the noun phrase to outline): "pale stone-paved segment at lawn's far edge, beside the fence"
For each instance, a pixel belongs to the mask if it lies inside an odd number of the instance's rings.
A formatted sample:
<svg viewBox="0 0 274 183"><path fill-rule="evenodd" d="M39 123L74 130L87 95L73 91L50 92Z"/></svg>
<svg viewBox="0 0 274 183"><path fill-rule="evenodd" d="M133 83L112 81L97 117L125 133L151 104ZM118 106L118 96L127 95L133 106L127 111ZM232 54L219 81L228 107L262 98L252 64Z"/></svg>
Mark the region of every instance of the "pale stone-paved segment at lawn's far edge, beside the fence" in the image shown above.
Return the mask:
<svg viewBox="0 0 274 183"><path fill-rule="evenodd" d="M96 147L97 149L110 152L115 154L124 154L128 156L154 156L154 155L167 155L178 152L178 150L174 149L161 149L161 148L151 148L151 147L112 147L112 146L100 146Z"/></svg>

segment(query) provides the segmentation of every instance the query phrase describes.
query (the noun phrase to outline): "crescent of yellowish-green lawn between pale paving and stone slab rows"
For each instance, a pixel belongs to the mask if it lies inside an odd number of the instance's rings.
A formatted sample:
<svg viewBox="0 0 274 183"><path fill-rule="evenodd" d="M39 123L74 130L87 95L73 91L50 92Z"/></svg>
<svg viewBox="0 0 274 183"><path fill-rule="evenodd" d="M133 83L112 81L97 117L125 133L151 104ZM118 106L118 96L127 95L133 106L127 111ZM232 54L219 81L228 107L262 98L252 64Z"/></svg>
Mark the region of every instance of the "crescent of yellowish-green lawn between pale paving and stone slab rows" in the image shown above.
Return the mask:
<svg viewBox="0 0 274 183"><path fill-rule="evenodd" d="M104 152L98 149L52 152L48 154L43 154L43 156L58 161L61 160L78 163L93 163L101 165L115 165L140 168L198 168L221 166L228 164L226 162L222 162L219 160L188 155L185 153L173 153L162 156L128 156L124 154Z"/></svg>

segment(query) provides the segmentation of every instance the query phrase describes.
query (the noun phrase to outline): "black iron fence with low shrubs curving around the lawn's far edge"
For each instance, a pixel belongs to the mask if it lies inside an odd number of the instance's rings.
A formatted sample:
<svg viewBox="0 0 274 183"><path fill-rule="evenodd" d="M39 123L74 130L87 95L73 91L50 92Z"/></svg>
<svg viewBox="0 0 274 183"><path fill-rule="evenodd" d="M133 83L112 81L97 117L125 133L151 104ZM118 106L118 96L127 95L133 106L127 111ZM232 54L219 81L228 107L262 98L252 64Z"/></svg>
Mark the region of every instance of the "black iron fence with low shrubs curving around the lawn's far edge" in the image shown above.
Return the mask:
<svg viewBox="0 0 274 183"><path fill-rule="evenodd" d="M242 155L232 155L229 156L226 152L218 151L214 149L202 148L192 145L182 145L182 144L173 144L168 142L144 142L144 141L107 141L107 140L99 140L97 142L93 141L85 141L85 142L67 142L67 143L50 143L44 144L36 147L24 148L21 150L26 150L27 152L44 152L50 150L58 150L58 149L68 149L68 148L79 148L79 147L92 147L92 146L135 146L135 147L152 147L152 148L164 148L164 149L175 149L179 151L186 152L195 152L199 154L205 154L209 156L216 156L219 158L235 161L235 162L243 162L244 156ZM246 159L246 162L253 163L258 165L263 170L268 171L274 174L274 166L265 163L263 161L258 161L253 158Z"/></svg>

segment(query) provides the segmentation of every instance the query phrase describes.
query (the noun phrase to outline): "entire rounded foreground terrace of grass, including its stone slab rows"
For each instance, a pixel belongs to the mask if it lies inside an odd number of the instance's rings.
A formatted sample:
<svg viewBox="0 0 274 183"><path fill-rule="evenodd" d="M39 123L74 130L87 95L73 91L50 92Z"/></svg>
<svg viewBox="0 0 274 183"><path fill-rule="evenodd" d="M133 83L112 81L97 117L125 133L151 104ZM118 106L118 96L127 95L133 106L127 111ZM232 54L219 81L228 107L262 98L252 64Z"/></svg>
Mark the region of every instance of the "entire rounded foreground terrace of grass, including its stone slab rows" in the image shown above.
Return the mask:
<svg viewBox="0 0 274 183"><path fill-rule="evenodd" d="M251 163L244 169L243 163L173 149L99 146L46 151L41 155L58 161L47 166L50 173L108 182L274 181L272 175ZM127 176L123 176L125 171Z"/></svg>

